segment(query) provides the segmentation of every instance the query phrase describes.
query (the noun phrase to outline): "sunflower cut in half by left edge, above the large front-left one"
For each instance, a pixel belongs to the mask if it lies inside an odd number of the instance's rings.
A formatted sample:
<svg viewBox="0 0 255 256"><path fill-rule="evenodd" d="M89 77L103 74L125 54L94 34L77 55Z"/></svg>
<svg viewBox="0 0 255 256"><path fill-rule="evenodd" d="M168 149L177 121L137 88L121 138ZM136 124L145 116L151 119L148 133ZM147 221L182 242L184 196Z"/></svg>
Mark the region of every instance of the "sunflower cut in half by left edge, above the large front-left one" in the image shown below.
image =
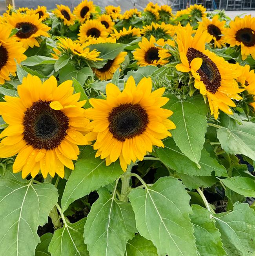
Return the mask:
<svg viewBox="0 0 255 256"><path fill-rule="evenodd" d="M22 54L26 51L22 47L21 42L16 42L13 38L9 38L11 28L0 24L0 84L3 85L4 81L10 80L9 74L15 76L16 62L24 61L27 57Z"/></svg>

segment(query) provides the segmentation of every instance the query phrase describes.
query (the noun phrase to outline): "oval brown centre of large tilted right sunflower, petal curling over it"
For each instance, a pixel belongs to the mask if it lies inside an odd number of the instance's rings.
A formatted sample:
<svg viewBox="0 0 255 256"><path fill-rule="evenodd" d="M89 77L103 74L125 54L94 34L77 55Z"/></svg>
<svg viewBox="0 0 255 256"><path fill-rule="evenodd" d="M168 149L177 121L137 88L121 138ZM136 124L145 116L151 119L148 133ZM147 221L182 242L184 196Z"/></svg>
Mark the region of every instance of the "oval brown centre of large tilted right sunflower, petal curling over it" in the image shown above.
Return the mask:
<svg viewBox="0 0 255 256"><path fill-rule="evenodd" d="M221 84L221 76L216 64L208 56L195 48L188 48L187 58L189 64L195 58L201 58L203 60L201 67L197 70L197 73L199 73L201 81L204 82L206 90L213 94L217 92L217 89Z"/></svg>

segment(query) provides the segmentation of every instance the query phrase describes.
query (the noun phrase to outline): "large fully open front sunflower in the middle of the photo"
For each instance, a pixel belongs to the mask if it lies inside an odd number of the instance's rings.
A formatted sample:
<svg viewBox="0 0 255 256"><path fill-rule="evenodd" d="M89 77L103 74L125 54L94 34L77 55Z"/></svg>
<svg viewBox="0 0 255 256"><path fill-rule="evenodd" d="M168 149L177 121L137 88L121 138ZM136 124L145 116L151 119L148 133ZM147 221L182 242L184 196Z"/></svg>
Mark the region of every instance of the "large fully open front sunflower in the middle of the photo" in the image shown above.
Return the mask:
<svg viewBox="0 0 255 256"><path fill-rule="evenodd" d="M164 147L162 139L171 136L175 125L168 117L173 113L162 109L168 98L162 97L165 88L151 92L151 78L144 77L137 85L129 77L123 92L112 84L106 86L106 99L90 99L93 108L86 117L93 120L87 127L96 138L96 157L106 158L106 165L118 158L123 171L131 160L142 160L152 146Z"/></svg>

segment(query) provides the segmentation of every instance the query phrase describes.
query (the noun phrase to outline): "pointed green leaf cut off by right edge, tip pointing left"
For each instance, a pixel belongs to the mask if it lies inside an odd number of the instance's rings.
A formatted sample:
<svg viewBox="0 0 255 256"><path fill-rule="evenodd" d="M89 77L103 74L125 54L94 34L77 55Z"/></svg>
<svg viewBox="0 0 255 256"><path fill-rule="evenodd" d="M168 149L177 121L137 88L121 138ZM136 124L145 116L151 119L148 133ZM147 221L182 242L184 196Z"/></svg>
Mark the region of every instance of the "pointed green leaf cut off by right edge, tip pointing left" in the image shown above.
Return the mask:
<svg viewBox="0 0 255 256"><path fill-rule="evenodd" d="M255 197L255 182L254 179L247 177L232 177L222 179L221 182L231 190L244 195L245 197Z"/></svg>

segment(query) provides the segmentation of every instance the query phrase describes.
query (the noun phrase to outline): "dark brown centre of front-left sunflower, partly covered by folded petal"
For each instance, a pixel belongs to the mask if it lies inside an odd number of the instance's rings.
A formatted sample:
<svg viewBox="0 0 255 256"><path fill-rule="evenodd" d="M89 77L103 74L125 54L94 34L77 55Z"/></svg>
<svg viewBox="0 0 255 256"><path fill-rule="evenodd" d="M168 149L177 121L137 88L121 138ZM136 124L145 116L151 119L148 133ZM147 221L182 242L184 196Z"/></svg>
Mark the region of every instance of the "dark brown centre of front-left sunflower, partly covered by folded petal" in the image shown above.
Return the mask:
<svg viewBox="0 0 255 256"><path fill-rule="evenodd" d="M50 101L36 101L24 116L24 140L35 149L51 150L67 135L69 118L62 112L51 109Z"/></svg>

